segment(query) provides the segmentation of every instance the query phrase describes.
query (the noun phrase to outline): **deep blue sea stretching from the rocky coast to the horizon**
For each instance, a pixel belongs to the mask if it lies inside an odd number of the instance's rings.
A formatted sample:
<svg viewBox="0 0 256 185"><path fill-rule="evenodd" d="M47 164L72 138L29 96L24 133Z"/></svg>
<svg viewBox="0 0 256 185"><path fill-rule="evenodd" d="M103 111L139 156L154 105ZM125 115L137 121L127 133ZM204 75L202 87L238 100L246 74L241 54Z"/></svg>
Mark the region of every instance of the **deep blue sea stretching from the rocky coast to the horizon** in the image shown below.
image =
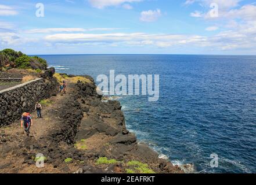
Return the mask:
<svg viewBox="0 0 256 185"><path fill-rule="evenodd" d="M175 164L200 173L256 173L256 56L41 56L74 75L158 74L160 99L124 95L127 127ZM218 154L218 168L210 155Z"/></svg>

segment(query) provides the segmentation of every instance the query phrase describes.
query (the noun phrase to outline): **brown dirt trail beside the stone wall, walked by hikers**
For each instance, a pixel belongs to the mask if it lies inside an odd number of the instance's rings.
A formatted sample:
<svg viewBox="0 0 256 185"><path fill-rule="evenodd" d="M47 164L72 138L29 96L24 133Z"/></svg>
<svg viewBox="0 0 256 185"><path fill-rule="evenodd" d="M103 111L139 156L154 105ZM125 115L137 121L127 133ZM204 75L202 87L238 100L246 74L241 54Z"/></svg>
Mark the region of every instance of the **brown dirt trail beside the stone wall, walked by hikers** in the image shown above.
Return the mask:
<svg viewBox="0 0 256 185"><path fill-rule="evenodd" d="M24 158L19 156L22 156L22 153L24 154L26 150L24 148L26 144L24 143L30 140L39 142L41 138L46 136L51 129L56 128L57 124L62 121L57 116L57 112L63 106L62 101L73 93L73 86L73 83L67 81L66 94L62 96L58 93L56 96L47 99L48 105L42 105L42 119L37 119L36 110L31 113L33 125L30 128L30 136L27 136L24 129L20 127L20 120L0 128L0 173L58 172L53 166L43 169L35 168L34 165L27 166L24 164Z"/></svg>

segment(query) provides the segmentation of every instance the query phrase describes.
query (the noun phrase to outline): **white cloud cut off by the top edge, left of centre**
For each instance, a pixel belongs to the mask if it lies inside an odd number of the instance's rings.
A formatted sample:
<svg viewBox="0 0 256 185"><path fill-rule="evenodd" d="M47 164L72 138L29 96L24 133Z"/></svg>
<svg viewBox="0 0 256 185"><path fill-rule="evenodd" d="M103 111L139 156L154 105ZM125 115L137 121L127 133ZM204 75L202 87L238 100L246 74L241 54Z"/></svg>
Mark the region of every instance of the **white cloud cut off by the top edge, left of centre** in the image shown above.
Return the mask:
<svg viewBox="0 0 256 185"><path fill-rule="evenodd" d="M143 1L143 0L89 0L89 3L94 8L103 9L107 6L118 6L126 2L131 3L131 2L140 2L140 1Z"/></svg>

